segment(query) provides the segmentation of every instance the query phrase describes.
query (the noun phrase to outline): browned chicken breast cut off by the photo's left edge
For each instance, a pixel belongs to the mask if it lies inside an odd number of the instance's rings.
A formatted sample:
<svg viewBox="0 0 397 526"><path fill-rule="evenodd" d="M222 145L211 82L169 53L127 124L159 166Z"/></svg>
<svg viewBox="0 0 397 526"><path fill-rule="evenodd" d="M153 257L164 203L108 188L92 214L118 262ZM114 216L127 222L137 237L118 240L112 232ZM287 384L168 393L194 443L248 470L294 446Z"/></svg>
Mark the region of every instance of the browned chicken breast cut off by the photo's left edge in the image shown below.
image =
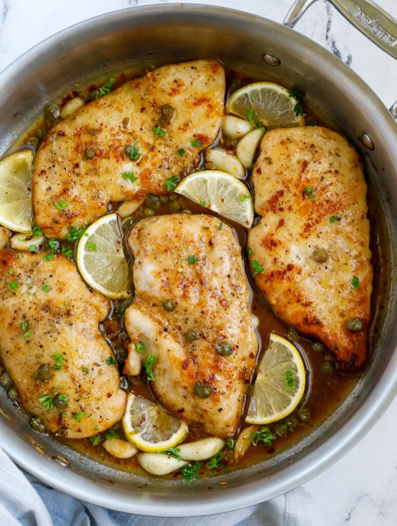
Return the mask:
<svg viewBox="0 0 397 526"><path fill-rule="evenodd" d="M0 250L0 356L23 405L47 429L89 437L120 420L127 400L98 327L109 301L88 290L66 256L43 255Z"/></svg>

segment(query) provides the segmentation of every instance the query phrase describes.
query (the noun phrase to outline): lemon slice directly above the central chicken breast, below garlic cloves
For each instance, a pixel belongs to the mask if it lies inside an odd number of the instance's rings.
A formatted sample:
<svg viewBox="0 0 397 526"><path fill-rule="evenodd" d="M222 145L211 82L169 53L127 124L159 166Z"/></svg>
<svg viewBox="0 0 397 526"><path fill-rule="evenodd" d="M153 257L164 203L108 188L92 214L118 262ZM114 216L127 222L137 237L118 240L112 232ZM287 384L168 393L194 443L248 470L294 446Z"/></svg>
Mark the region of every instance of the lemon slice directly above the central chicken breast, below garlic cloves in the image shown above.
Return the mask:
<svg viewBox="0 0 397 526"><path fill-rule="evenodd" d="M235 176L220 170L196 171L175 188L177 194L250 228L253 204L250 191Z"/></svg>

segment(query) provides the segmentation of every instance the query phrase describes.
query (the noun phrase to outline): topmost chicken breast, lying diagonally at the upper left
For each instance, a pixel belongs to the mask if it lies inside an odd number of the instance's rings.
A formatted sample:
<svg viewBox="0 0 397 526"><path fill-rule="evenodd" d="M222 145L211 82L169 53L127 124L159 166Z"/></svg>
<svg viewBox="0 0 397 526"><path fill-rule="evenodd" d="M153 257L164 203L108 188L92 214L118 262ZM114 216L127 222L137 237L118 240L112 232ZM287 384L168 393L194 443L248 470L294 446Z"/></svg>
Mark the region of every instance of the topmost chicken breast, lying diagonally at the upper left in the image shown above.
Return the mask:
<svg viewBox="0 0 397 526"><path fill-rule="evenodd" d="M110 201L167 193L216 139L224 103L222 66L194 60L159 67L86 104L50 129L38 149L37 224L48 238L62 239L70 227L106 214Z"/></svg>

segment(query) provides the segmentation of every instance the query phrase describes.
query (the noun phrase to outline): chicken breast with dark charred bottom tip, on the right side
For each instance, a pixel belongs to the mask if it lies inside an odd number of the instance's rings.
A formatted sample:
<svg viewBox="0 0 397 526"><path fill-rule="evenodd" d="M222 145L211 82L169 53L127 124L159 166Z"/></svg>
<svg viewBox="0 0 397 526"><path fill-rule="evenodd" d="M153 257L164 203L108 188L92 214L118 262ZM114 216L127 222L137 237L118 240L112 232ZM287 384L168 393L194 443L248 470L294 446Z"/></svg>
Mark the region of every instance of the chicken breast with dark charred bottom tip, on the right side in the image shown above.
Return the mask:
<svg viewBox="0 0 397 526"><path fill-rule="evenodd" d="M372 266L359 155L326 128L276 129L262 139L252 179L262 216L248 235L258 287L281 318L320 340L340 366L361 366Z"/></svg>

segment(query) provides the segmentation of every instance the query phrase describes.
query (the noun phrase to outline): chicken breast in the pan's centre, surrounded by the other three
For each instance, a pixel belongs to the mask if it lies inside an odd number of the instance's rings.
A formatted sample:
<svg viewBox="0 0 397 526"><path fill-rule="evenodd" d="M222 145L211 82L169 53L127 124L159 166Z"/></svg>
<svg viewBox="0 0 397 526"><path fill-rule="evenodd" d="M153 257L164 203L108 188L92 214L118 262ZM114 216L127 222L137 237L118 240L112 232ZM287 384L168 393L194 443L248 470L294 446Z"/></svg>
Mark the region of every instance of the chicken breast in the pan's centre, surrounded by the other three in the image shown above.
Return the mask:
<svg viewBox="0 0 397 526"><path fill-rule="evenodd" d="M258 351L233 230L207 215L158 216L140 220L128 244L136 298L125 326L142 360L157 357L151 389L187 422L233 436Z"/></svg>

